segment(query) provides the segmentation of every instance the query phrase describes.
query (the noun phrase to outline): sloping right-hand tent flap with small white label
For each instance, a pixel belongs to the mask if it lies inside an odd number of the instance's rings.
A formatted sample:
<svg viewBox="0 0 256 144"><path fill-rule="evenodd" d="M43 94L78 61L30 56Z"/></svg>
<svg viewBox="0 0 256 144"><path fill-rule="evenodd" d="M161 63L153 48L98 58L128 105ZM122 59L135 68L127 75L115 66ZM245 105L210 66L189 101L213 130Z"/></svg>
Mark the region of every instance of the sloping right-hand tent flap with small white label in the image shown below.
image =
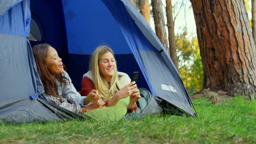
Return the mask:
<svg viewBox="0 0 256 144"><path fill-rule="evenodd" d="M115 17L115 20L119 23L119 27L121 32L123 32L127 44L135 56L139 67L144 72L143 75L146 78L152 95L167 100L169 103L180 107L185 112L195 116L193 110L191 110L188 99L189 95L185 90L174 64L170 63L172 62L170 61L170 58L168 59L169 63L167 64L166 60L161 56L159 52L160 50L157 51L155 46L152 45L153 43L156 46L161 47L161 50L164 50L160 40L155 38L156 35L153 31L150 31L151 28L147 27L146 20L141 19L141 15L137 12L137 9L132 7L130 2L119 0L106 0L103 2L107 5L110 12ZM112 7L113 5L115 5L115 7ZM122 9L121 5L125 5L130 13L126 9ZM132 14L132 16L130 14ZM137 22L137 25L136 21L139 21ZM142 29L144 31L143 33L139 27L147 28L147 31L146 29ZM150 39L152 40L152 43L150 43L151 41L147 39L145 35L148 35L149 38L149 35L151 35L151 37L154 38ZM162 52L162 55L167 55L165 50ZM152 59L154 60L152 61ZM158 69L155 69L155 65L158 65ZM172 69L169 69L170 67L168 67L168 65L171 65ZM172 87L175 91L167 91L162 88L162 85Z"/></svg>

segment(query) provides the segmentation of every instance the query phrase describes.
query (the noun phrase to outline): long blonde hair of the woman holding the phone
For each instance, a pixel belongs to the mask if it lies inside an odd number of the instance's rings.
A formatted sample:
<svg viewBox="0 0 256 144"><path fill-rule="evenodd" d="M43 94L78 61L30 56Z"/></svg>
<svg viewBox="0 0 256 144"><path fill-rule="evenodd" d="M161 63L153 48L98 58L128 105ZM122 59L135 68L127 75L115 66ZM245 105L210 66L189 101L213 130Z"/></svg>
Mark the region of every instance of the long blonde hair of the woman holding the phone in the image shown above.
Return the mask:
<svg viewBox="0 0 256 144"><path fill-rule="evenodd" d="M94 53L91 55L90 59L90 70L92 72L92 77L94 79L94 87L98 90L102 99L109 99L121 88L117 70L117 62L114 63L114 74L110 77L109 81L106 81L100 73L100 68L98 67L98 62L102 56L110 52L114 56L114 52L106 45L100 45L96 48ZM115 58L114 58L115 60Z"/></svg>

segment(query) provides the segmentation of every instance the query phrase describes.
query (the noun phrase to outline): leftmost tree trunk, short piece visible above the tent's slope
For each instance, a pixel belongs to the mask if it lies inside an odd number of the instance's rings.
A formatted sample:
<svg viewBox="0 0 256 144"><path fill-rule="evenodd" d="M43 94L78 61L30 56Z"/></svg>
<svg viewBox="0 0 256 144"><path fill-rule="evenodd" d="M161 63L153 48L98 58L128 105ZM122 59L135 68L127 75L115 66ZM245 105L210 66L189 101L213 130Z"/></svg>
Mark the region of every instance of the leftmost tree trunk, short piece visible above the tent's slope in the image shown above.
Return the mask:
<svg viewBox="0 0 256 144"><path fill-rule="evenodd" d="M139 13L141 13L148 24L150 24L150 5L148 0L139 0L139 9L141 9Z"/></svg>

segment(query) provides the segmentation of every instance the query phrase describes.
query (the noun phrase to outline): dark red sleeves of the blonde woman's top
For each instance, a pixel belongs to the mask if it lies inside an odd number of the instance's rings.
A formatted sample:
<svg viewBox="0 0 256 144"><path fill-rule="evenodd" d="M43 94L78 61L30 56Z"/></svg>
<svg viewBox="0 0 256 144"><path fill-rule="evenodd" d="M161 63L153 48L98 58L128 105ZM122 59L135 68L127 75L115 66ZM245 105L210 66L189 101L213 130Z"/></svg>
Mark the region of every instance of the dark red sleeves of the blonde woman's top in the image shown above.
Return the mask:
<svg viewBox="0 0 256 144"><path fill-rule="evenodd" d="M92 82L91 79L88 77L84 77L81 82L81 91L79 92L81 95L88 95L92 89L94 88L94 82ZM105 105L108 106L108 100L105 102ZM136 111L138 108L137 104L135 103L135 106L132 109L129 109L128 112Z"/></svg>

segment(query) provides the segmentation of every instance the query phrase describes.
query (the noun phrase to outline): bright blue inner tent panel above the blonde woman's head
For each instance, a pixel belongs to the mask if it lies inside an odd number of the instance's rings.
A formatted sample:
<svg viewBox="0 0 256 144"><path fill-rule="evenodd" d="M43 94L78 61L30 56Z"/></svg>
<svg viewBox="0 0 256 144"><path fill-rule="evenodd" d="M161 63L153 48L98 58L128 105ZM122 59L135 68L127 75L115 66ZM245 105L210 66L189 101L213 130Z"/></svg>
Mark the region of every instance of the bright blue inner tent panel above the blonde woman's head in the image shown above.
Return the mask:
<svg viewBox="0 0 256 144"><path fill-rule="evenodd" d="M101 44L110 45L117 55L131 53L106 5L98 0L89 3L83 0L62 1L68 53L91 55ZM111 35L120 37L113 38Z"/></svg>

